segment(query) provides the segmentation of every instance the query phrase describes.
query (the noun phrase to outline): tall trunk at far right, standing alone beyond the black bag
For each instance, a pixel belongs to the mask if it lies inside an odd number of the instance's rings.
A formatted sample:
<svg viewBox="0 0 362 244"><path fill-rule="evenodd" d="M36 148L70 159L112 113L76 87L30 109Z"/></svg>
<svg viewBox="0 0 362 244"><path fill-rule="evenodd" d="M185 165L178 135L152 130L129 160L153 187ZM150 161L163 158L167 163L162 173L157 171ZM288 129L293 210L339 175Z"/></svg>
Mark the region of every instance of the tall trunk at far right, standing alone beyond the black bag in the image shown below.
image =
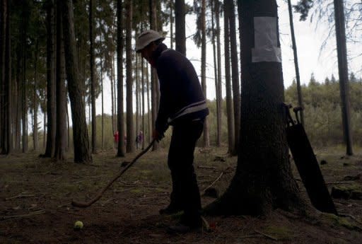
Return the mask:
<svg viewBox="0 0 362 244"><path fill-rule="evenodd" d="M351 115L349 105L349 81L348 81L348 62L346 47L346 30L344 25L344 6L343 1L334 0L334 20L336 22L336 39L338 55L338 73L339 73L339 91L341 94L341 112L344 142L346 143L346 155L353 155L352 134L351 134Z"/></svg>

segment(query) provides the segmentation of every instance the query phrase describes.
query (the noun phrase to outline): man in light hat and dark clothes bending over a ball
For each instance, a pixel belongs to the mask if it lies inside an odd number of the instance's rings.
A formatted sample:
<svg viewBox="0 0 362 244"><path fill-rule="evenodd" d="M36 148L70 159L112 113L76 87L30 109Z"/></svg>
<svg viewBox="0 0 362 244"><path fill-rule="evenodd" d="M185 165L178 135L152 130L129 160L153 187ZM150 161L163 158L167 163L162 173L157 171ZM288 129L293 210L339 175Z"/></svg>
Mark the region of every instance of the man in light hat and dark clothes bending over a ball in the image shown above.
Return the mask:
<svg viewBox="0 0 362 244"><path fill-rule="evenodd" d="M194 149L202 134L204 119L209 115L197 73L189 59L163 44L165 38L154 30L137 37L136 52L156 69L160 84L160 104L153 129L159 141L168 126L173 134L168 152L168 167L173 182L170 205L160 214L184 211L177 226L168 231L185 233L202 227L201 200L194 173Z"/></svg>

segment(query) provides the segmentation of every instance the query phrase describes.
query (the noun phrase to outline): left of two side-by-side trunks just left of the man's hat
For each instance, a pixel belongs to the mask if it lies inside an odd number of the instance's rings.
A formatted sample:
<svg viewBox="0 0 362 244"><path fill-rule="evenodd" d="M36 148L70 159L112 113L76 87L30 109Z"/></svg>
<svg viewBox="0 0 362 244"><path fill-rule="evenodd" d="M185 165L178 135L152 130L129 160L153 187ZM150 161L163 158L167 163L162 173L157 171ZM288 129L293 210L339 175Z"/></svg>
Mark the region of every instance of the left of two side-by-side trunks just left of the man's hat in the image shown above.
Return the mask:
<svg viewBox="0 0 362 244"><path fill-rule="evenodd" d="M124 157L124 112L123 112L123 15L122 0L117 0L117 156Z"/></svg>

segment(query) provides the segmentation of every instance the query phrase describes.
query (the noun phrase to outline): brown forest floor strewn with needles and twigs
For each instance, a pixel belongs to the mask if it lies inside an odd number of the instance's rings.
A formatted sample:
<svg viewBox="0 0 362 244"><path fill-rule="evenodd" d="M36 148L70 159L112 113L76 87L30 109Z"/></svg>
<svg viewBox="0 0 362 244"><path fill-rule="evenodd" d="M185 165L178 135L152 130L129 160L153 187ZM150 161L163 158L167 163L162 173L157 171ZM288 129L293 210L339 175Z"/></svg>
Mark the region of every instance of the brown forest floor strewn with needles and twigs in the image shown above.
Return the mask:
<svg viewBox="0 0 362 244"><path fill-rule="evenodd" d="M71 206L72 199L93 198L136 153L125 158L116 158L112 150L95 153L92 165L73 163L70 154L64 163L39 158L38 153L0 156L0 243L362 243L362 200L357 199L334 199L337 211L346 217L281 210L267 217L205 216L211 231L170 235L165 228L177 223L178 216L158 214L170 193L165 149L146 153L91 207ZM315 153L318 161L327 162L320 168L329 191L351 185L362 190L361 154L346 157L334 149ZM197 149L200 191L218 179L213 187L222 193L236 163L237 157L228 157L226 148ZM212 201L202 194L204 206ZM80 231L74 230L78 220L84 224Z"/></svg>

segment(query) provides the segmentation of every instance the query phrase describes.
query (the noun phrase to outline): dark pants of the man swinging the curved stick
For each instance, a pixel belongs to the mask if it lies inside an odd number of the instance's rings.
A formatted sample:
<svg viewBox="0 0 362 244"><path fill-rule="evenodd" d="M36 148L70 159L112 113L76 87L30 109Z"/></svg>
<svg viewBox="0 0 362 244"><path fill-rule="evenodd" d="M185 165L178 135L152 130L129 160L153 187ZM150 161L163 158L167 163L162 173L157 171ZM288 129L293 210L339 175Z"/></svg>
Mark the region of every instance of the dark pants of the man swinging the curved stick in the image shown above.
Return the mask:
<svg viewBox="0 0 362 244"><path fill-rule="evenodd" d="M182 221L188 225L201 221L201 199L193 163L194 149L203 128L203 120L175 124L168 152L168 167L173 182L171 204L184 210Z"/></svg>

